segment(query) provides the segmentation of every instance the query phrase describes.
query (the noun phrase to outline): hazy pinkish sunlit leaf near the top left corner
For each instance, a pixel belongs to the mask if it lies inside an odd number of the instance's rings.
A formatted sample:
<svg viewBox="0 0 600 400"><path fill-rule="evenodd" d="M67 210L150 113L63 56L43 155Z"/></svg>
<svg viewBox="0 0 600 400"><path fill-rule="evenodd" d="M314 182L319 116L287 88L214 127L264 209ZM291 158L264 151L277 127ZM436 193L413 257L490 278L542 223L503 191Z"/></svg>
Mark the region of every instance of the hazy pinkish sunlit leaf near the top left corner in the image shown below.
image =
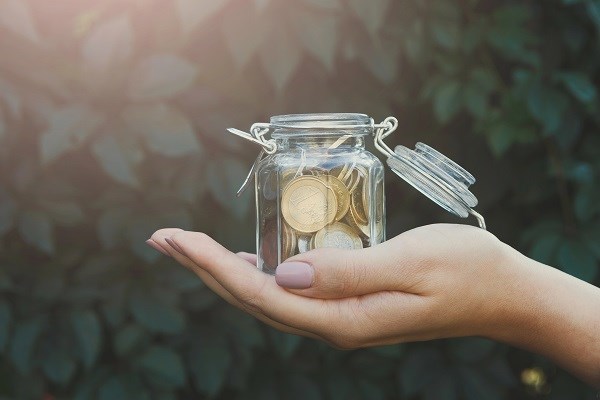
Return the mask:
<svg viewBox="0 0 600 400"><path fill-rule="evenodd" d="M81 54L92 70L108 72L122 67L133 51L133 27L125 14L113 17L92 29Z"/></svg>

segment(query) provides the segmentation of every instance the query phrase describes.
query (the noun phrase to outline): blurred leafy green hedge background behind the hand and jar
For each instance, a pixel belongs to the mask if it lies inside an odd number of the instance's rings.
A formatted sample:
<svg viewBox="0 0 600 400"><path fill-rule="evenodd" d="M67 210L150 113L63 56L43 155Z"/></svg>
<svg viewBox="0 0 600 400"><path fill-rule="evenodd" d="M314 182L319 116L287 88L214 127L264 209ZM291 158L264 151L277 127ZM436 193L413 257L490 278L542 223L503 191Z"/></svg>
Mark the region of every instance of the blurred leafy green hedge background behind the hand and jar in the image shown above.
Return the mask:
<svg viewBox="0 0 600 400"><path fill-rule="evenodd" d="M225 128L362 112L471 171L500 239L599 284L599 32L597 0L0 0L0 398L596 398L483 339L278 333L144 241L254 251L235 191L259 148ZM388 237L474 223L386 192Z"/></svg>

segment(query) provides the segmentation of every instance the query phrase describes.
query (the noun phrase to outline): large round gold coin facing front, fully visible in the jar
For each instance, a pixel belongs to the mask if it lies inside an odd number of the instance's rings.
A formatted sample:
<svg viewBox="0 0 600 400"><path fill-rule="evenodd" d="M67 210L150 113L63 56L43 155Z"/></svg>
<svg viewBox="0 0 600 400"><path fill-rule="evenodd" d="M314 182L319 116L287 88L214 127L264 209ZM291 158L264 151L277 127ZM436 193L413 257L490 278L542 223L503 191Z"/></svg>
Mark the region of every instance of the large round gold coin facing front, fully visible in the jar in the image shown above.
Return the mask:
<svg viewBox="0 0 600 400"><path fill-rule="evenodd" d="M283 190L283 218L299 232L316 232L333 222L337 209L335 192L318 178L295 178Z"/></svg>

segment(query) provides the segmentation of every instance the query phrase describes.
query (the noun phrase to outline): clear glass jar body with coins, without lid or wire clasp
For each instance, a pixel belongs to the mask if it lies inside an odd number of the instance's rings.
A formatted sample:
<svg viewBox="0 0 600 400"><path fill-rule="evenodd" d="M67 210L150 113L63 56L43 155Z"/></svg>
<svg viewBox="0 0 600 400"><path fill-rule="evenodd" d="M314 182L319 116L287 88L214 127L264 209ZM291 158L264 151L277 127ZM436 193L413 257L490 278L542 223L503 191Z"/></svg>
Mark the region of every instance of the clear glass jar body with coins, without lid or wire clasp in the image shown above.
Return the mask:
<svg viewBox="0 0 600 400"><path fill-rule="evenodd" d="M364 114L271 118L276 151L255 166L258 268L294 254L385 241L384 168L365 149Z"/></svg>

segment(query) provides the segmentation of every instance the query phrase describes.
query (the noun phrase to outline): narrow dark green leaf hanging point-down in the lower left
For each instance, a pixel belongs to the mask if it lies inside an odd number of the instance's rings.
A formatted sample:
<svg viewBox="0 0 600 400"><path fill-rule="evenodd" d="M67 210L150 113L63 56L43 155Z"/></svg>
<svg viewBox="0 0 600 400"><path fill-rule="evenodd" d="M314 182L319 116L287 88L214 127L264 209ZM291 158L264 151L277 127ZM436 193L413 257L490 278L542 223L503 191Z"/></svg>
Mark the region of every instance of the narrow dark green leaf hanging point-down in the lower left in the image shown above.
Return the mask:
<svg viewBox="0 0 600 400"><path fill-rule="evenodd" d="M71 325L81 351L81 360L91 368L102 344L102 328L96 314L91 310L75 311L71 314Z"/></svg>

